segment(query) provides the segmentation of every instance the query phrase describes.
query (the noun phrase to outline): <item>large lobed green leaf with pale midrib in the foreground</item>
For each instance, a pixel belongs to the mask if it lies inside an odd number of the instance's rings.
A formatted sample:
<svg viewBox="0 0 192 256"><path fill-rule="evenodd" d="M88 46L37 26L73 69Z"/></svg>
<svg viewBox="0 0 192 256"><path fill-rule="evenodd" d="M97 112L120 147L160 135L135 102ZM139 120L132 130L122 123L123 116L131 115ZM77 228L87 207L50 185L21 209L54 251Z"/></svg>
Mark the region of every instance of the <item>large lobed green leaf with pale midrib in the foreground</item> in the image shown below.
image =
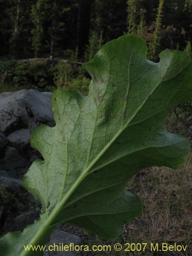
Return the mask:
<svg viewBox="0 0 192 256"><path fill-rule="evenodd" d="M0 240L3 255L29 255L24 244L45 244L63 222L117 238L142 208L125 190L127 180L144 167L177 168L185 161L189 141L168 133L165 121L173 106L191 99L191 60L165 50L156 64L146 53L142 38L122 36L83 65L92 77L87 97L77 90L53 93L56 126L42 125L31 138L44 161L35 161L23 180L42 213Z"/></svg>

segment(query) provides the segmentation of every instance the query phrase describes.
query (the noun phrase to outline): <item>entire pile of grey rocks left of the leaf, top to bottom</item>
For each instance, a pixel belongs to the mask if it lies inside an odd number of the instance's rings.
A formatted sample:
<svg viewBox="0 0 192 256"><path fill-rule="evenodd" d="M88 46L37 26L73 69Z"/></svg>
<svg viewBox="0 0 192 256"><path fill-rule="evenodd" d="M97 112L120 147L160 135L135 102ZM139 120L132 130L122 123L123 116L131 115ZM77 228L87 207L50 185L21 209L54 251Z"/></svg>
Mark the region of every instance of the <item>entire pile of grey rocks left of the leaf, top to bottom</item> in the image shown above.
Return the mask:
<svg viewBox="0 0 192 256"><path fill-rule="evenodd" d="M33 223L40 207L23 187L22 177L41 158L30 146L34 129L54 126L51 93L20 90L0 94L0 227L1 233Z"/></svg>

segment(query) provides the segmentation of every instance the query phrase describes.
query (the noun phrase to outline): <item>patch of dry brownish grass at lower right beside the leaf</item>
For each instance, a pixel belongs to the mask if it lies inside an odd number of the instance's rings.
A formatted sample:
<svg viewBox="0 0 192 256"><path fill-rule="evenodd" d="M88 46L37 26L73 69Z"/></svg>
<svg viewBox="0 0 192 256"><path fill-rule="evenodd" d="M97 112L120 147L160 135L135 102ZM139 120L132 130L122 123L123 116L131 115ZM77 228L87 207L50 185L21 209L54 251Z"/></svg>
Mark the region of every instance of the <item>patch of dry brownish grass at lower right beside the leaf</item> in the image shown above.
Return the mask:
<svg viewBox="0 0 192 256"><path fill-rule="evenodd" d="M187 244L192 255L192 161L178 170L153 167L140 172L129 187L143 201L143 214L125 233L133 242Z"/></svg>

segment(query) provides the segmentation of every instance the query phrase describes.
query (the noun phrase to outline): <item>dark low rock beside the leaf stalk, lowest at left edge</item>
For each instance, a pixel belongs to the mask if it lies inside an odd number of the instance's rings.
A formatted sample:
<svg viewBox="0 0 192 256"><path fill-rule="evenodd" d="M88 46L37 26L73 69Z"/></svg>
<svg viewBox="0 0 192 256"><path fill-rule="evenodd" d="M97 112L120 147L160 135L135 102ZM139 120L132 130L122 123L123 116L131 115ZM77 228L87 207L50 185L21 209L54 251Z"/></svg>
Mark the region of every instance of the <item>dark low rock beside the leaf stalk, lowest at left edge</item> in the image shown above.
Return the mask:
<svg viewBox="0 0 192 256"><path fill-rule="evenodd" d="M15 218L7 219L4 224L4 233L23 230L27 225L32 224L39 218L40 209L23 212Z"/></svg>

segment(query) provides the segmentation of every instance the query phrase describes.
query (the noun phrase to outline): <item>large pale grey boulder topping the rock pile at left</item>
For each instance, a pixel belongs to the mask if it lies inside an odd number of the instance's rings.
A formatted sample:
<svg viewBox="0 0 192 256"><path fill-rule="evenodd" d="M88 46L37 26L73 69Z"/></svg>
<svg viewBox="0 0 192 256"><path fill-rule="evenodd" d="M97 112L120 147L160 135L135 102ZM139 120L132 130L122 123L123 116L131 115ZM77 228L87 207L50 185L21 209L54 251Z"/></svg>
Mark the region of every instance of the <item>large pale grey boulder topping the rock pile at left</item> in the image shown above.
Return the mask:
<svg viewBox="0 0 192 256"><path fill-rule="evenodd" d="M51 93L20 90L0 94L0 132L8 135L28 128L30 133L40 124L54 125Z"/></svg>

